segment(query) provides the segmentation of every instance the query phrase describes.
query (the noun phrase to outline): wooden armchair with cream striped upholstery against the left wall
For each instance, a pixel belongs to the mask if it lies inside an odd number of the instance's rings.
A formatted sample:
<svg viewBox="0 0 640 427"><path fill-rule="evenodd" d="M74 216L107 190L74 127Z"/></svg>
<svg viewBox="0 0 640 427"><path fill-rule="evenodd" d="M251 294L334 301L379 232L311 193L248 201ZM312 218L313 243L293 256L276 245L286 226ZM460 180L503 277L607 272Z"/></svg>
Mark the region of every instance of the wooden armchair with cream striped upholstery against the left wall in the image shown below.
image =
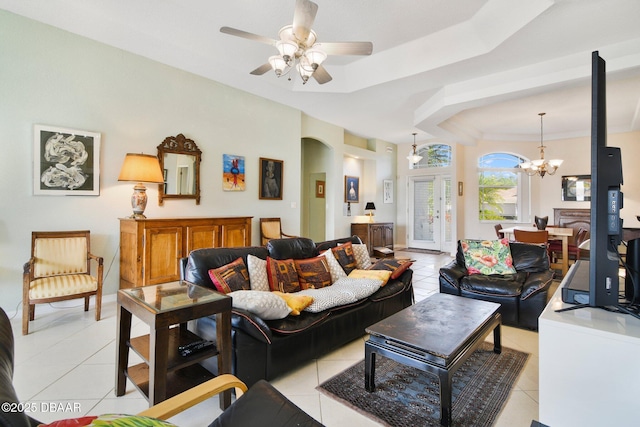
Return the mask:
<svg viewBox="0 0 640 427"><path fill-rule="evenodd" d="M91 275L91 261L97 263ZM35 305L84 298L84 311L89 299L96 297L96 320L102 305L103 259L91 254L90 232L34 231L31 233L31 258L22 276L22 335L29 333Z"/></svg>

